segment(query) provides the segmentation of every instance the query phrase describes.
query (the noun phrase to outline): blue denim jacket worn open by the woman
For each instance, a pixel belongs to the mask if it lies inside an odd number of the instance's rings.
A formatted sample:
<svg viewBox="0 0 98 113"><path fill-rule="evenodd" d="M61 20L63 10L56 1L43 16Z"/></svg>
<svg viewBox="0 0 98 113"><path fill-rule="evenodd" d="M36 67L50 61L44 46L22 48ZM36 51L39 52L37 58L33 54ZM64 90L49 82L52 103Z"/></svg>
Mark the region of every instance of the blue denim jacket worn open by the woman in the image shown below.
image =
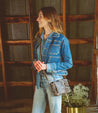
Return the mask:
<svg viewBox="0 0 98 113"><path fill-rule="evenodd" d="M43 39L44 32L41 35ZM40 60L40 41L36 38L34 43L34 60ZM72 56L68 39L56 32L52 32L46 39L43 48L42 61L47 64L47 75L52 75L53 79L50 82L62 79L67 75L67 69L73 66ZM39 88L40 72L36 76L36 85Z"/></svg>

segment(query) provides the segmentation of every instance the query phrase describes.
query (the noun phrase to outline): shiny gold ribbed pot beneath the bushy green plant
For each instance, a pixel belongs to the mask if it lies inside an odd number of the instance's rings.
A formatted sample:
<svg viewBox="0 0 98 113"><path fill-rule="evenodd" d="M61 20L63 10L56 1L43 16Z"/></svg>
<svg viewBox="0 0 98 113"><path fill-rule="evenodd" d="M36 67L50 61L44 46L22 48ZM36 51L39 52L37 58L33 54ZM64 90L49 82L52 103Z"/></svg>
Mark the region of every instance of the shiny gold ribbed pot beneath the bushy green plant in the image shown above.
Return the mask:
<svg viewBox="0 0 98 113"><path fill-rule="evenodd" d="M66 107L66 113L86 113L85 107Z"/></svg>

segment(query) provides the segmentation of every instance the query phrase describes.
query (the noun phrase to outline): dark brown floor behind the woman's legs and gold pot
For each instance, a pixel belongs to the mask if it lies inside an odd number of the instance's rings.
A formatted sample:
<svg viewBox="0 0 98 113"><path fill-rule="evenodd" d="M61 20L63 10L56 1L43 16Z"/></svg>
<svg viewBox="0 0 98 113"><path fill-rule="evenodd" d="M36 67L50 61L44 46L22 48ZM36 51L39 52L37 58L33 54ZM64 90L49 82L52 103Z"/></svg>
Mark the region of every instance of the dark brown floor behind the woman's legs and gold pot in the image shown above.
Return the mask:
<svg viewBox="0 0 98 113"><path fill-rule="evenodd" d="M0 102L0 113L31 113L31 111L32 99ZM50 113L48 106L45 113ZM62 108L62 113L66 113L65 108ZM87 107L86 113L98 113L98 106L91 105Z"/></svg>

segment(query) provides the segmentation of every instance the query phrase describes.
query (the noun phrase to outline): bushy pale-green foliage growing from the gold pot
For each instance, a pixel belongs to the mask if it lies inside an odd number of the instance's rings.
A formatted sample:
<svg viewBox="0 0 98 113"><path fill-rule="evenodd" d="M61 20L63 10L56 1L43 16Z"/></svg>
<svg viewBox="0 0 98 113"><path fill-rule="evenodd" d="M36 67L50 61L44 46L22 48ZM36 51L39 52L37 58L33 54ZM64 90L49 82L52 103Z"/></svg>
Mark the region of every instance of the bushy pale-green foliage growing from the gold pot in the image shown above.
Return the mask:
<svg viewBox="0 0 98 113"><path fill-rule="evenodd" d="M62 96L63 105L66 107L88 106L90 102L88 93L88 87L82 84L75 85L69 94Z"/></svg>

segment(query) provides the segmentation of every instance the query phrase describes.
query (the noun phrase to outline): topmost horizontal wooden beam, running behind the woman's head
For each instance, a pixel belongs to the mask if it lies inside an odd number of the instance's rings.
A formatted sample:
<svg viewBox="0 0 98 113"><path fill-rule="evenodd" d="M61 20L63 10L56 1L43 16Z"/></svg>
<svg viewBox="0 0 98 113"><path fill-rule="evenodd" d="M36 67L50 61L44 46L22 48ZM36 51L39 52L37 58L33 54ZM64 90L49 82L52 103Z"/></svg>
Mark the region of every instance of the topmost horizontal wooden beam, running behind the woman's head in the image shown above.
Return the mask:
<svg viewBox="0 0 98 113"><path fill-rule="evenodd" d="M64 7L64 6L63 6ZM64 10L64 9L63 9ZM65 14L65 11L64 11ZM64 19L65 15L60 16L61 20L63 20L63 25L65 22L81 22L81 21L94 21L94 15L66 15L66 20ZM32 22L36 22L37 16L33 16L31 18ZM18 16L18 17L4 17L0 18L1 23L6 24L18 24L18 23L29 23L29 16Z"/></svg>

